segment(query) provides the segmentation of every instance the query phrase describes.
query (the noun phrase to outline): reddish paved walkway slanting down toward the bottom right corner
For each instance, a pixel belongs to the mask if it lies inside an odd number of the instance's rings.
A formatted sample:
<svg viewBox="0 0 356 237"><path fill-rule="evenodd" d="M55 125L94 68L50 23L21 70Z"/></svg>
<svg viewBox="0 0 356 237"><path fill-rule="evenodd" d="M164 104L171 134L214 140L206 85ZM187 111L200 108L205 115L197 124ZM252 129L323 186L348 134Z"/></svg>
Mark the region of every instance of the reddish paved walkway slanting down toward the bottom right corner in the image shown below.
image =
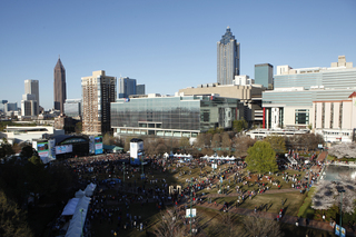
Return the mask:
<svg viewBox="0 0 356 237"><path fill-rule="evenodd" d="M221 210L224 205L220 204L208 204L205 201L204 204L197 204L196 206L198 207L204 207L204 208L209 208L209 209L215 209L215 210ZM255 211L251 209L246 209L246 208L236 208L235 206L229 207L229 211L243 216L253 216L255 215ZM274 213L266 213L266 211L257 211L258 217L265 218L265 219L276 219L277 214ZM297 223L297 217L294 216L284 216L280 219L281 223L287 223L291 225L296 225ZM306 225L306 219L300 218L299 226L305 226L308 228L314 228L314 229L322 229L322 230L327 230L327 231L334 231L333 227L329 225L329 223L324 223L324 221L317 221L317 220L309 220L309 224ZM347 236L356 236L355 233L350 228L346 228Z"/></svg>

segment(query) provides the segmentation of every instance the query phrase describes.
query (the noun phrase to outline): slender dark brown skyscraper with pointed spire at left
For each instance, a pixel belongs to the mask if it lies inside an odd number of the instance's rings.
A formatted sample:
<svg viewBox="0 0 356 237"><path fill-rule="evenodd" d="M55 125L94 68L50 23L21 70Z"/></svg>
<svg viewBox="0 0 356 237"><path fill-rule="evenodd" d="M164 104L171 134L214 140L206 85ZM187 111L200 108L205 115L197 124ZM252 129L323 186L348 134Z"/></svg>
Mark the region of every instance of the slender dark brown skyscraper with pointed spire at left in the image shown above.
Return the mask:
<svg viewBox="0 0 356 237"><path fill-rule="evenodd" d="M66 69L60 60L57 61L55 67L55 83L53 83L53 95L55 95L55 109L63 112L63 105L67 99L66 89Z"/></svg>

